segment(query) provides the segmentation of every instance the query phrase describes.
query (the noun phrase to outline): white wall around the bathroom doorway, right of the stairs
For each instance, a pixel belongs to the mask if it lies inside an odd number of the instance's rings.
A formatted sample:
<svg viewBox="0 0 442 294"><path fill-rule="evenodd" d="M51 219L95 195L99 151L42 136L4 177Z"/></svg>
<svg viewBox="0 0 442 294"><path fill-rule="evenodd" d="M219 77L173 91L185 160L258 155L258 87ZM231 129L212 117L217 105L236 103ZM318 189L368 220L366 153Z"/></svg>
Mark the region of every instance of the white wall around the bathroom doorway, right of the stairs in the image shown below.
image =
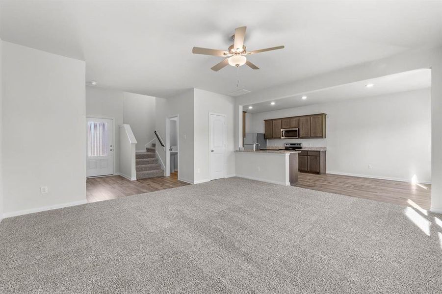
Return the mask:
<svg viewBox="0 0 442 294"><path fill-rule="evenodd" d="M166 118L179 115L178 144L179 144L179 174L180 180L193 183L194 180L194 109L193 89L186 90L171 98L156 98L156 130L166 143ZM164 148L156 142L156 152L166 165Z"/></svg>

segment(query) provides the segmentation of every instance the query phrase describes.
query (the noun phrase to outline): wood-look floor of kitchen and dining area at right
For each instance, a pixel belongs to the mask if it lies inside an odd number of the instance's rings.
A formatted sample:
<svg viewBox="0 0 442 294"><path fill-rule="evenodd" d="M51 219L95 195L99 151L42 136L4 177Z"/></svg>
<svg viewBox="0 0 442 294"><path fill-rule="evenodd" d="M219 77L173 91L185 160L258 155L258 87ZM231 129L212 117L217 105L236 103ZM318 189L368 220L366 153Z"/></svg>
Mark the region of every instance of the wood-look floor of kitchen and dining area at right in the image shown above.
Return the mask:
<svg viewBox="0 0 442 294"><path fill-rule="evenodd" d="M427 184L300 172L294 186L399 205L410 205L411 200L423 209L431 204L431 185Z"/></svg>

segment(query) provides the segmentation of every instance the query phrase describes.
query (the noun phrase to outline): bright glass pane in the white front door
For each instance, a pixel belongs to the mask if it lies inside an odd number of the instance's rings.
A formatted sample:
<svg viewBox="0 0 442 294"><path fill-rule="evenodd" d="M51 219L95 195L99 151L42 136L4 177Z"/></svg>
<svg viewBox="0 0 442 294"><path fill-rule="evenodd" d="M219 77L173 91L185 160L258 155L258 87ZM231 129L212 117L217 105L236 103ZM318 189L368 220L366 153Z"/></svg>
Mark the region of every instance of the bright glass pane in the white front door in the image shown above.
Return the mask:
<svg viewBox="0 0 442 294"><path fill-rule="evenodd" d="M92 156L107 156L107 123L87 123L87 154Z"/></svg>

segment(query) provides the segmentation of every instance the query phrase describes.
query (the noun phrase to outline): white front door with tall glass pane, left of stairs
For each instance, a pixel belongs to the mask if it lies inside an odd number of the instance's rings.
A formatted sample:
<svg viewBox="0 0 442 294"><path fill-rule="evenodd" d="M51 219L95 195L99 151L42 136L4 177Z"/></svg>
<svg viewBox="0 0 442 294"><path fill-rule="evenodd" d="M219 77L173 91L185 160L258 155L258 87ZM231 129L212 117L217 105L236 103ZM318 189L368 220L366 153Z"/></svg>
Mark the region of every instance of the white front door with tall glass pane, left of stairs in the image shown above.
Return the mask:
<svg viewBox="0 0 442 294"><path fill-rule="evenodd" d="M86 176L113 174L113 120L86 118Z"/></svg>

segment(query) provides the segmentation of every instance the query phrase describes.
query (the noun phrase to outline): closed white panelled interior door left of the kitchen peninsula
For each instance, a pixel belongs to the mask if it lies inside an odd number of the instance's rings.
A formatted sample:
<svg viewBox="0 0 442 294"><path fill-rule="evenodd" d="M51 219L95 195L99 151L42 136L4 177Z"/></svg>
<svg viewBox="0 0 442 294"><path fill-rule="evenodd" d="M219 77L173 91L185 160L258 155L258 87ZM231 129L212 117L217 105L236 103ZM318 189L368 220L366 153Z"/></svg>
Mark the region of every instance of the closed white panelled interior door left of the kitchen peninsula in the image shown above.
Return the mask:
<svg viewBox="0 0 442 294"><path fill-rule="evenodd" d="M226 177L226 117L210 114L210 180Z"/></svg>

